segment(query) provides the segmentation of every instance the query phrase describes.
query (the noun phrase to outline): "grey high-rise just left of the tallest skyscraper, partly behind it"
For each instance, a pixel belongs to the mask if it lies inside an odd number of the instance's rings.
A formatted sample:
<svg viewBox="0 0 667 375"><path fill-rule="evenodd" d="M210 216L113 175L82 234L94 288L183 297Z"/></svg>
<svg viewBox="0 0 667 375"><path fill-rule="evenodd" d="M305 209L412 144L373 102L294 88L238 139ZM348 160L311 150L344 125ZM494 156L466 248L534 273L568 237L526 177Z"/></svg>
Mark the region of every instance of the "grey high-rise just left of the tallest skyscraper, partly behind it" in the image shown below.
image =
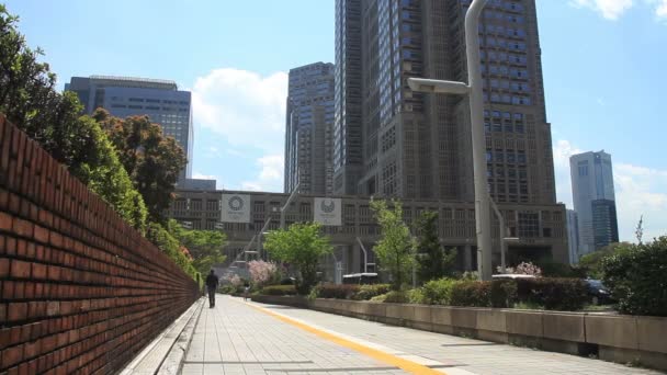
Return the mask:
<svg viewBox="0 0 667 375"><path fill-rule="evenodd" d="M332 193L334 65L290 70L285 120L285 181L290 193Z"/></svg>

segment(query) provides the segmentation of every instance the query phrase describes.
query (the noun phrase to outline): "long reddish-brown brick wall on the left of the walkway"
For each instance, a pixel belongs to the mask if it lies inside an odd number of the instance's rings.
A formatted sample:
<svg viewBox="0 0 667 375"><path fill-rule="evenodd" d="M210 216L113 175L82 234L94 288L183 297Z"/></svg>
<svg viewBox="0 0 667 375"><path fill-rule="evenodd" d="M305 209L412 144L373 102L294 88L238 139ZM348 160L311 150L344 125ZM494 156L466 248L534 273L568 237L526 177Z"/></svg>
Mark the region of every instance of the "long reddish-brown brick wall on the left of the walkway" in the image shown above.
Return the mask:
<svg viewBox="0 0 667 375"><path fill-rule="evenodd" d="M0 373L114 373L197 298L169 258L0 115Z"/></svg>

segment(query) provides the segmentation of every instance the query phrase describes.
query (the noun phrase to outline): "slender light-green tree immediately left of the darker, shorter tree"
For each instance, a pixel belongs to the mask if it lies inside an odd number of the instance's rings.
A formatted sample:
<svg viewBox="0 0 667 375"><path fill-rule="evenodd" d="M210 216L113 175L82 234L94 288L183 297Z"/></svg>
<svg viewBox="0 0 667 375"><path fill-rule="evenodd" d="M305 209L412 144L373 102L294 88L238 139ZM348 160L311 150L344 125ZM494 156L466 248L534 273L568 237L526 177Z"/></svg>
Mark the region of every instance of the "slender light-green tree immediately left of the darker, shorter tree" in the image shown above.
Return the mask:
<svg viewBox="0 0 667 375"><path fill-rule="evenodd" d="M371 201L371 209L380 224L382 238L373 250L380 260L380 266L389 273L392 289L398 291L408 280L415 264L414 240L408 226L403 221L400 201L392 201L393 208L386 201Z"/></svg>

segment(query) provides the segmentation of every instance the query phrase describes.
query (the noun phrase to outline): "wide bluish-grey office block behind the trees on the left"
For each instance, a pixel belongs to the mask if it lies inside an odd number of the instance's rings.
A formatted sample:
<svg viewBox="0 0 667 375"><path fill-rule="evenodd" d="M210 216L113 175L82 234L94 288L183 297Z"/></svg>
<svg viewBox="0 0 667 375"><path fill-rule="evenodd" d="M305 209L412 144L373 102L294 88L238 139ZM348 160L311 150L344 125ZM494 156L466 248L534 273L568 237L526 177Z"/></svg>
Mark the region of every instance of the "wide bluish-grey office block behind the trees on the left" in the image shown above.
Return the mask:
<svg viewBox="0 0 667 375"><path fill-rule="evenodd" d="M147 115L160 124L188 157L179 180L192 177L194 129L190 91L180 91L173 81L104 76L72 77L65 90L77 93L87 114L103 107L116 117Z"/></svg>

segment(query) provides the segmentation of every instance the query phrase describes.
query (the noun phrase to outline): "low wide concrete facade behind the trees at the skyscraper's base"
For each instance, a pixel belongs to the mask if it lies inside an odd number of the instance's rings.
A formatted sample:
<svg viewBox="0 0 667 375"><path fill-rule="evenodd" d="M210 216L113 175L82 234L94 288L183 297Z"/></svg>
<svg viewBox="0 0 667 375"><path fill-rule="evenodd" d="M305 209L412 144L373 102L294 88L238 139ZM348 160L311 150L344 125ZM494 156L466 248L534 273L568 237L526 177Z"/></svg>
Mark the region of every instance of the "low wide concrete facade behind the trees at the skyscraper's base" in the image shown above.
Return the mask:
<svg viewBox="0 0 667 375"><path fill-rule="evenodd" d="M222 194L250 195L250 223L221 223ZM167 213L178 221L190 221L194 229L219 228L227 235L226 253L228 261L238 255L251 238L257 235L268 218L271 218L268 230L280 226L280 207L287 201L289 194L261 192L229 191L177 191L177 198ZM314 195L298 195L285 214L285 224L312 221ZM342 201L342 226L324 227L324 232L331 237L335 255L323 260L323 272L334 280L335 261L342 264L343 273L361 272L364 260L357 238L370 250L369 263L374 263L373 246L378 239L378 227L370 208L370 197L339 196ZM461 270L474 270L475 252L475 211L472 202L451 202L436 200L404 200L404 217L411 226L422 211L439 213L441 242L446 248L457 250L457 265ZM550 258L558 262L568 261L567 234L564 226L565 207L563 205L523 205L516 209L510 204L499 204L506 224L512 237L520 237L517 243L508 249L508 264L522 260ZM217 226L216 226L217 224ZM498 224L493 223L494 236L498 236ZM256 245L252 245L253 248ZM494 265L500 263L500 250L494 240ZM261 253L265 257L265 253ZM373 269L369 269L373 271Z"/></svg>

